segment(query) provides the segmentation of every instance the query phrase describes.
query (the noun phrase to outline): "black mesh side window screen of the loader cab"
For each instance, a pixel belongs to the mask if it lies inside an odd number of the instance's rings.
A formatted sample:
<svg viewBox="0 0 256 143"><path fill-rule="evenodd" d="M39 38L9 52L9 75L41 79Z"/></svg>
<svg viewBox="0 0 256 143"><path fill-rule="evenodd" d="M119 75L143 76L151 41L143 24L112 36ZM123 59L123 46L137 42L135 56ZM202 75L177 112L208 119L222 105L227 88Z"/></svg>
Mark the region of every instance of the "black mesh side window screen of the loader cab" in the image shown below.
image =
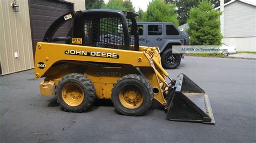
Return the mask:
<svg viewBox="0 0 256 143"><path fill-rule="evenodd" d="M118 17L85 17L85 46L125 49L122 22Z"/></svg>

